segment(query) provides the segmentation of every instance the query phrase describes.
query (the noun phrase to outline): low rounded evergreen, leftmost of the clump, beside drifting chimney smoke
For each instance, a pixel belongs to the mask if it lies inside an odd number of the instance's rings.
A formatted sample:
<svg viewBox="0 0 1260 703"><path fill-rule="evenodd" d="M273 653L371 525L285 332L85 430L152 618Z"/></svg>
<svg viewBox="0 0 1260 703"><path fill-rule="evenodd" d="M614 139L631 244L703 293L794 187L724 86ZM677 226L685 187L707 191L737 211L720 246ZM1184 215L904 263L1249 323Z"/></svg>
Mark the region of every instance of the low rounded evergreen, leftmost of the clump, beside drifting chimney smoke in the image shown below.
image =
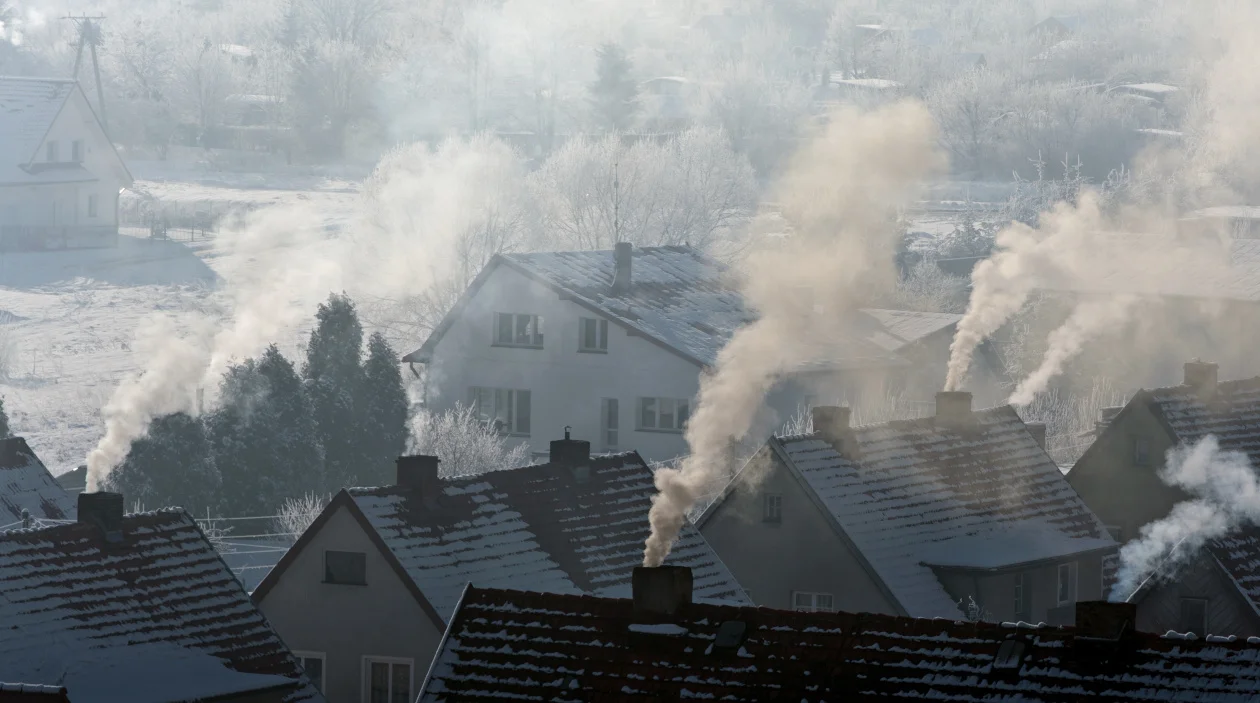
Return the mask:
<svg viewBox="0 0 1260 703"><path fill-rule="evenodd" d="M194 515L217 510L222 485L200 421L178 412L154 420L149 435L108 477L111 490L127 504L147 508L178 505Z"/></svg>

